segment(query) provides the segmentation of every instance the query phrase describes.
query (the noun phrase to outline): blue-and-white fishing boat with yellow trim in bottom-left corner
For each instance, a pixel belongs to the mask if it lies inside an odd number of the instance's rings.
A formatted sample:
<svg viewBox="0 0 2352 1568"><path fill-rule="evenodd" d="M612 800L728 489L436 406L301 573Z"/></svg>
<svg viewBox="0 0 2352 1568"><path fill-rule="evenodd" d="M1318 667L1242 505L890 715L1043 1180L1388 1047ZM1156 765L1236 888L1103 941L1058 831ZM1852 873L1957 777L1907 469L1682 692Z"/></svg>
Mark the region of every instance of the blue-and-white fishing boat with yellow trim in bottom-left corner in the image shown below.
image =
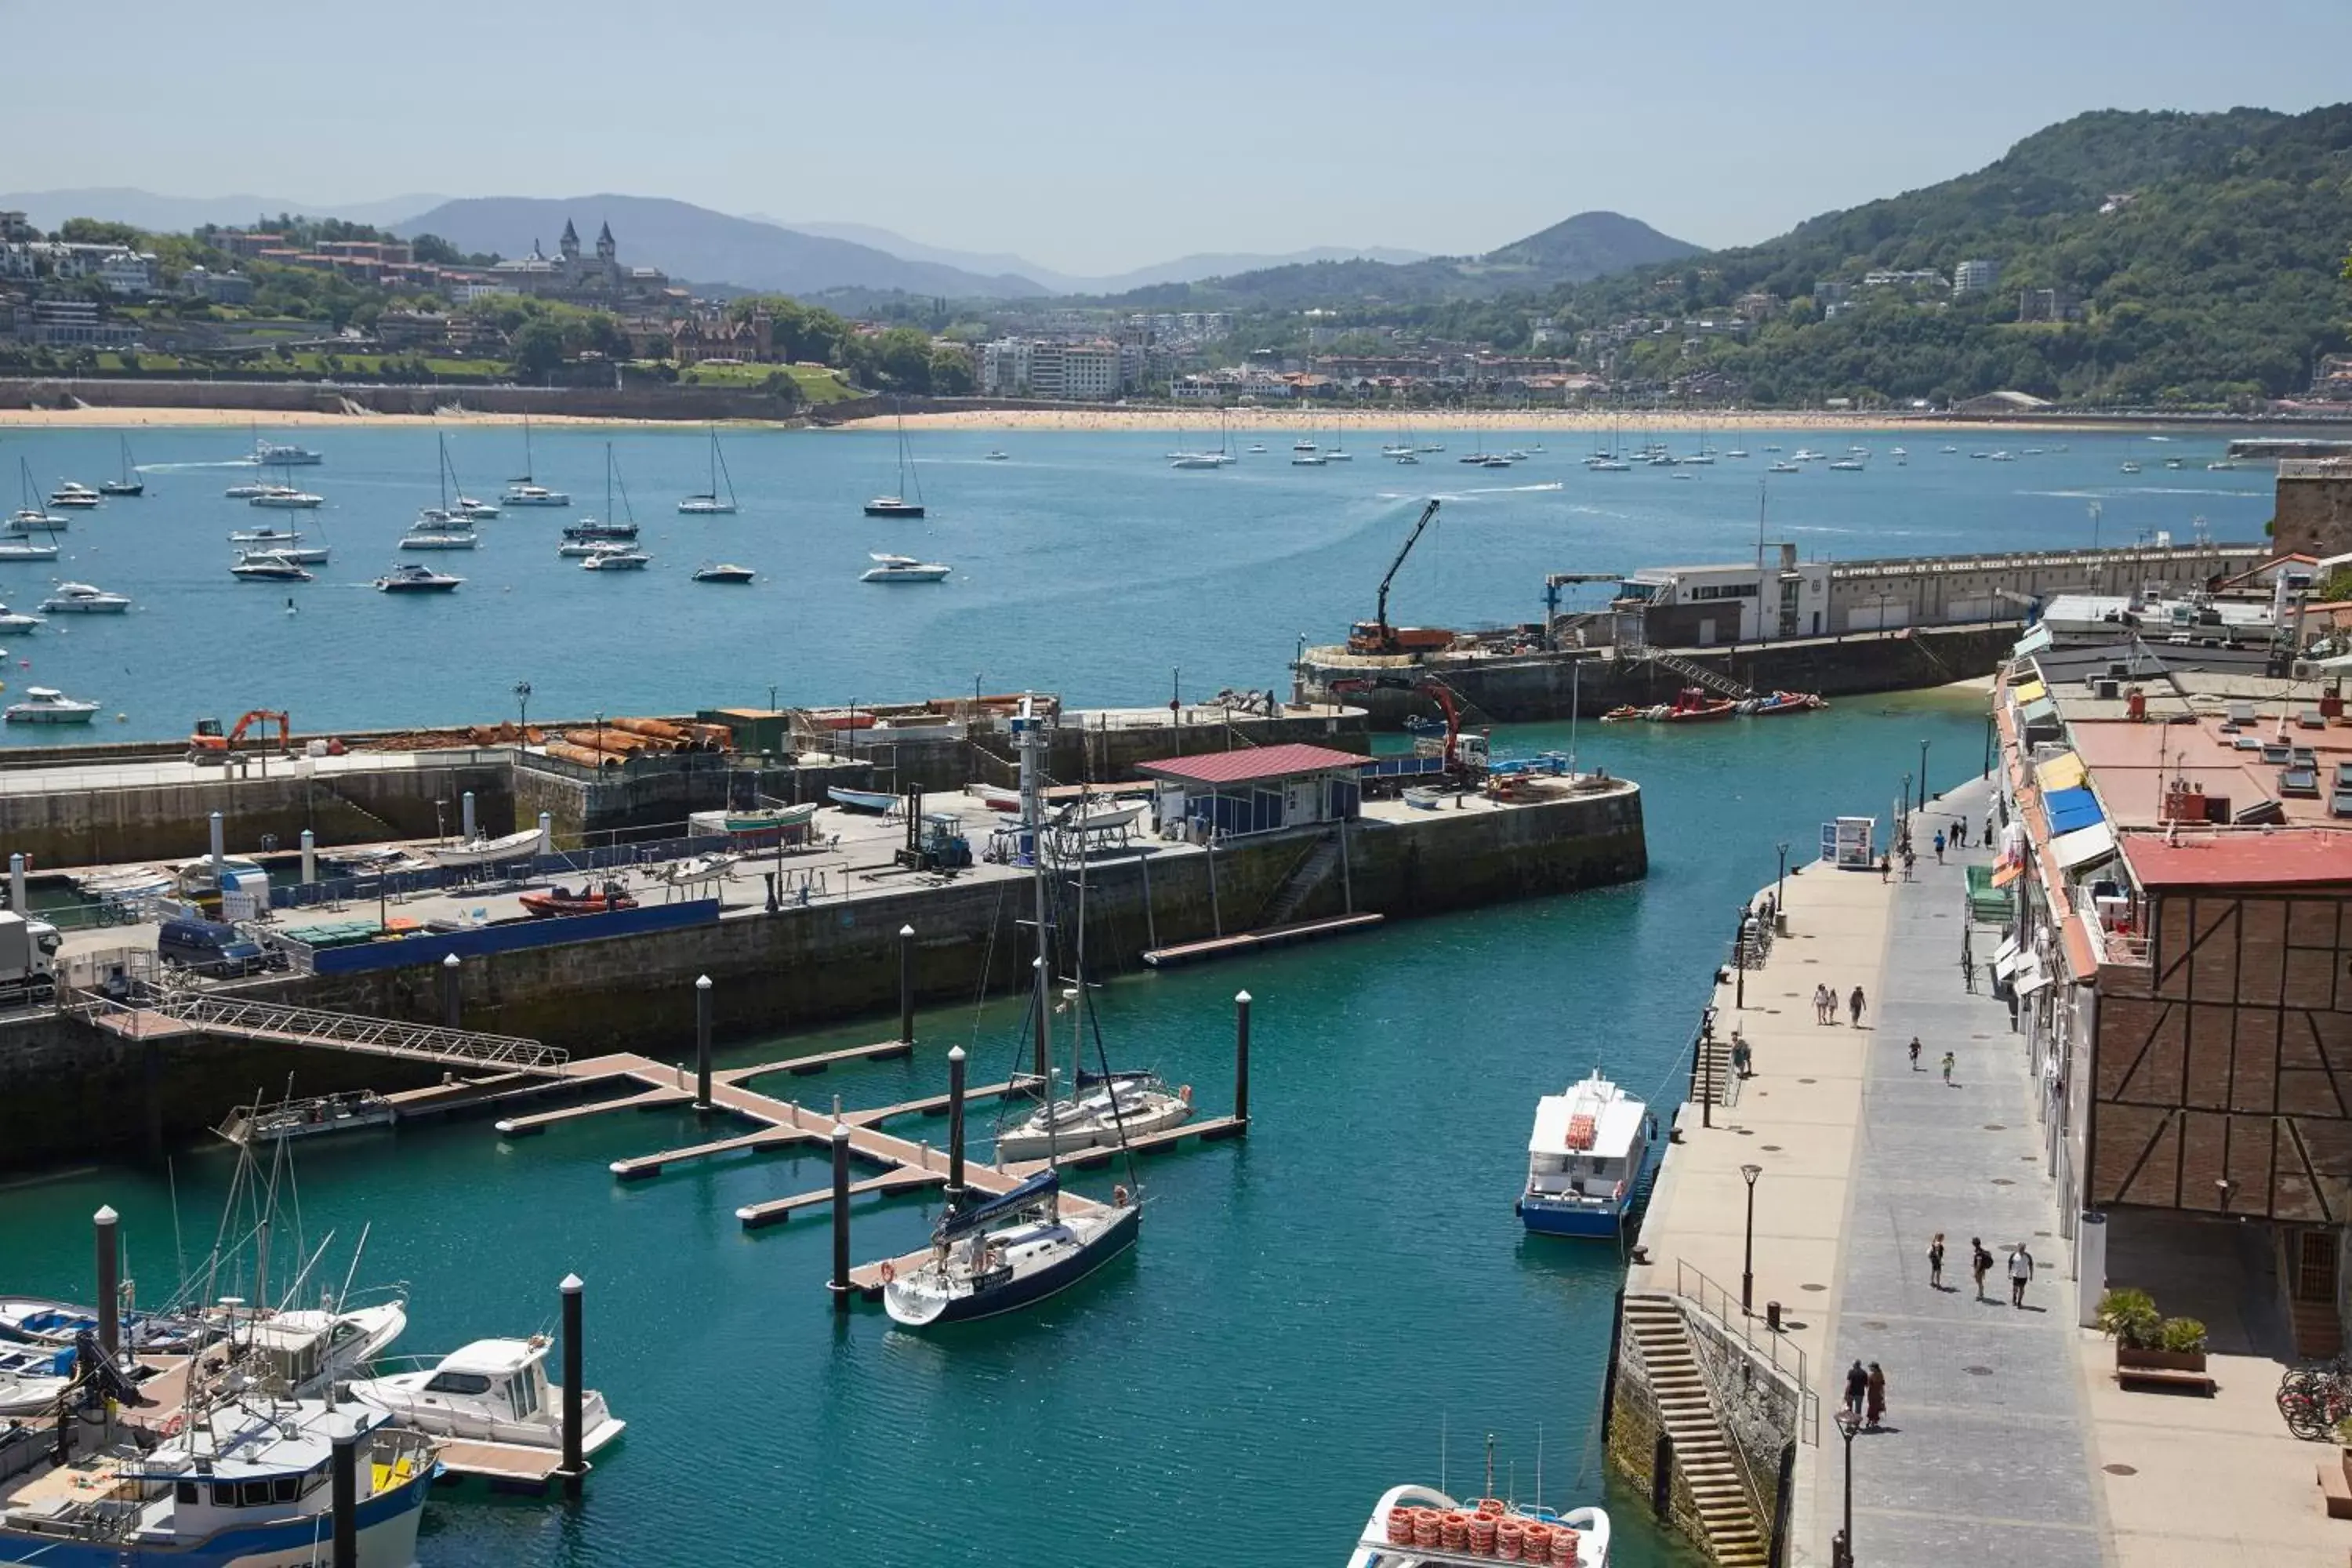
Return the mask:
<svg viewBox="0 0 2352 1568"><path fill-rule="evenodd" d="M440 1476L435 1441L372 1406L278 1399L259 1389L191 1401L153 1448L115 1425L111 1401L141 1401L113 1361L85 1373L80 1446L40 1443L0 1465L0 1561L108 1568L261 1568L327 1561L334 1453L355 1448L355 1556L416 1561L416 1526ZM38 1450L31 1446L38 1443Z"/></svg>

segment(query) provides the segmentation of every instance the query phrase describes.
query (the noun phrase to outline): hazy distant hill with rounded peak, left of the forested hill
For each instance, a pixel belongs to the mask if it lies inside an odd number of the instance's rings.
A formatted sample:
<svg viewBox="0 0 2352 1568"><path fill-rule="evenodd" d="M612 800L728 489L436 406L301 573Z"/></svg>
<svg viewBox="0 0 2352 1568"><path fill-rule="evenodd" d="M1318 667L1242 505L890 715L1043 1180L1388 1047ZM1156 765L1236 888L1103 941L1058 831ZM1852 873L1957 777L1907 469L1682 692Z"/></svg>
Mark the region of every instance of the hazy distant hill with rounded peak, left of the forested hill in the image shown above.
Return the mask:
<svg viewBox="0 0 2352 1568"><path fill-rule="evenodd" d="M1310 306L1425 306L1552 289L1651 261L1698 254L1696 244L1663 235L1618 212L1581 212L1538 235L1484 256L1423 256L1421 261L1308 261L1211 275L1197 282L1138 287L1120 303L1207 310L1301 310Z"/></svg>

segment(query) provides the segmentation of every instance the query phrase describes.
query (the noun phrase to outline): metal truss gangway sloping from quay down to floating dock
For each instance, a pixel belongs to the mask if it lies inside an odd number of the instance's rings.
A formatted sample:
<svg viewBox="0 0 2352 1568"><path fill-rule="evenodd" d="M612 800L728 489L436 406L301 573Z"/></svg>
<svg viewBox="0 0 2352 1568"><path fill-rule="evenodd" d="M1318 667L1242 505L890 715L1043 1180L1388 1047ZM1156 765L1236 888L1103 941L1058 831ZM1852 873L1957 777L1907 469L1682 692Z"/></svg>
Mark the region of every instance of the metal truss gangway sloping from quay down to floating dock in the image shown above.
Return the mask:
<svg viewBox="0 0 2352 1568"><path fill-rule="evenodd" d="M129 1001L80 992L78 1004L92 1027L125 1039L167 1034L219 1034L280 1046L320 1046L362 1056L397 1056L445 1067L499 1067L562 1077L572 1053L517 1034L482 1034L430 1023L400 1023L362 1013L329 1013L214 992L160 992L139 987Z"/></svg>

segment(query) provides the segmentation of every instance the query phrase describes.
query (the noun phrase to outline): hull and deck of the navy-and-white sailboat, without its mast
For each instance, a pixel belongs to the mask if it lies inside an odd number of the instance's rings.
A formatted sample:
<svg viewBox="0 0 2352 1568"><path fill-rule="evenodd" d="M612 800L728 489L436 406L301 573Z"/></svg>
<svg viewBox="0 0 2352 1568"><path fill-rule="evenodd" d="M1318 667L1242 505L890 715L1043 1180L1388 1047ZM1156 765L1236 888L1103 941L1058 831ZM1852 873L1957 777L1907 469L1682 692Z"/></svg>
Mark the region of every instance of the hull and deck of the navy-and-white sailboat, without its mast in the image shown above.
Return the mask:
<svg viewBox="0 0 2352 1568"><path fill-rule="evenodd" d="M929 1260L884 1276L882 1309L908 1328L1018 1312L1124 1253L1141 1222L1143 1208L1124 1187L1108 1204L1063 1201L1061 1175L1040 1171L941 1215Z"/></svg>

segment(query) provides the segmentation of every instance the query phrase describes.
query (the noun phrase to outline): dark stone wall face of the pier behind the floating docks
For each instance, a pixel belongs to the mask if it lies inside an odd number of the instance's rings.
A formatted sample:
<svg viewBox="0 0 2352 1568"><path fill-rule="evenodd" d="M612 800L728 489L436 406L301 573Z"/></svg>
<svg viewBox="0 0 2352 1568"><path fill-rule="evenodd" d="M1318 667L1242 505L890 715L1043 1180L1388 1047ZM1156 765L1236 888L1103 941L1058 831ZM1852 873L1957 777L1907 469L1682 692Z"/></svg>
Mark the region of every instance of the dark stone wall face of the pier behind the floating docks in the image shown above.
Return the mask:
<svg viewBox="0 0 2352 1568"><path fill-rule="evenodd" d="M1315 858L1329 830L1240 839L1214 853L1096 860L1087 882L1087 952L1103 971L1136 971L1148 947L1263 924L1294 875L1322 867L1298 914L1376 910L1432 914L1508 898L1639 879L1649 870L1642 795L1625 780L1508 811L1425 813L1406 823L1359 820L1345 858ZM1063 872L1068 877L1068 872ZM569 1048L642 1051L687 1060L694 1051L694 980L715 987L715 1027L774 1037L858 1016L896 1030L898 929L915 929L915 992L924 1004L969 1004L983 987L1028 985L1033 938L1025 879L913 884L715 924L466 959L463 1023ZM308 976L256 994L381 1018L437 1023L440 952L407 969ZM153 1051L153 1060L143 1053ZM440 1079L426 1063L329 1048L247 1046L174 1034L143 1046L68 1018L0 1025L0 1168L94 1157L136 1157L214 1126L254 1088L280 1093L405 1088ZM160 1091L151 1088L160 1081ZM151 1126L151 1119L160 1119Z"/></svg>

